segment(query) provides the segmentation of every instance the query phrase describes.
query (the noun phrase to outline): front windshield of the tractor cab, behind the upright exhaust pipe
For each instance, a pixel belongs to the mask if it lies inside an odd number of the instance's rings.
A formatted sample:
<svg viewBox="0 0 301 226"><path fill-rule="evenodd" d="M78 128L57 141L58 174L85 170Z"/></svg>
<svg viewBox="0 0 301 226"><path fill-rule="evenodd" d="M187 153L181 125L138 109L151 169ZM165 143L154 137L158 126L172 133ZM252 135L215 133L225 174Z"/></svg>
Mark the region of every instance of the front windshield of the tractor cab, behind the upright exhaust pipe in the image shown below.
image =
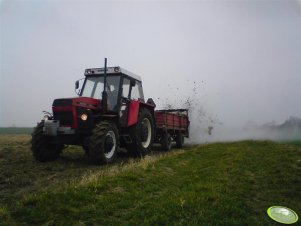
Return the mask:
<svg viewBox="0 0 301 226"><path fill-rule="evenodd" d="M81 96L101 99L103 92L103 76L89 76L86 78ZM116 110L120 76L107 76L108 108Z"/></svg>

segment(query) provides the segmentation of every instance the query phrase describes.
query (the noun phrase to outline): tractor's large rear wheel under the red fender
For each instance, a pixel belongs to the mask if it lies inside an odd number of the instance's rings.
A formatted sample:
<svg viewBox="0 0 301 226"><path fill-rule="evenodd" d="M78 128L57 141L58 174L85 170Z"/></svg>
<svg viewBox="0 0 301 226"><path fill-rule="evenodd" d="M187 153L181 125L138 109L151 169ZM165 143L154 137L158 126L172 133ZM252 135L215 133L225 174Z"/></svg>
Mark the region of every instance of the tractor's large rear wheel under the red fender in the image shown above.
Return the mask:
<svg viewBox="0 0 301 226"><path fill-rule="evenodd" d="M134 156L145 156L154 142L154 119L146 108L139 111L138 122L130 128L132 143L127 146Z"/></svg>

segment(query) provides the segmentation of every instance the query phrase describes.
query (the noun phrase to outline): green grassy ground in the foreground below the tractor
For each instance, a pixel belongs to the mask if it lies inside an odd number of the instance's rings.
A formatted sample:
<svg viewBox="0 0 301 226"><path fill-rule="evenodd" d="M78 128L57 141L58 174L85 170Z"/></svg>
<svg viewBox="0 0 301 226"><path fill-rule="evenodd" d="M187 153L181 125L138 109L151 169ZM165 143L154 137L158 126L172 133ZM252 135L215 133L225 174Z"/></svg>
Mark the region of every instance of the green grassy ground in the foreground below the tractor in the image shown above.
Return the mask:
<svg viewBox="0 0 301 226"><path fill-rule="evenodd" d="M100 167L74 148L36 163L20 142L0 149L0 186L7 177L13 184L2 185L3 224L275 225L266 215L272 205L301 215L300 142L199 145ZM22 157L10 158L21 147Z"/></svg>

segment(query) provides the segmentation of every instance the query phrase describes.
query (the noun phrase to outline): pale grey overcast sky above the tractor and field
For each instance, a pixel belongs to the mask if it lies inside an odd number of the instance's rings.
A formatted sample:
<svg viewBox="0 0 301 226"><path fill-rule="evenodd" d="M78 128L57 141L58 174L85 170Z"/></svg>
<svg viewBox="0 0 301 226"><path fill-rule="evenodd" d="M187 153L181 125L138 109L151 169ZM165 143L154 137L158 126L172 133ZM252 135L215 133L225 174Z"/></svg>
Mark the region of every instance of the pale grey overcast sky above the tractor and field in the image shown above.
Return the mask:
<svg viewBox="0 0 301 226"><path fill-rule="evenodd" d="M0 126L35 125L105 57L159 107L196 87L224 124L301 117L298 1L4 0L0 29Z"/></svg>

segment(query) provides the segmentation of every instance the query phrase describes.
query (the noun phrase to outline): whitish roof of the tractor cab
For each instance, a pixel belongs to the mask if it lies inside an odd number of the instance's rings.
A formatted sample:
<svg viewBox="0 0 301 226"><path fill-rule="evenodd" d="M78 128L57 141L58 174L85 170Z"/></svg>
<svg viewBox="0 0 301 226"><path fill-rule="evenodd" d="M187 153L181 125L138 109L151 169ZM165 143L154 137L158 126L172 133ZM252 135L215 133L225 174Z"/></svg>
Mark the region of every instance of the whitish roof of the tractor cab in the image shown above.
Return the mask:
<svg viewBox="0 0 301 226"><path fill-rule="evenodd" d="M92 75L103 75L104 74L104 68L89 68L85 70L85 76L92 76ZM107 75L109 74L124 74L129 77L132 77L138 81L142 81L141 77L138 75L135 75L134 73L125 70L121 67L107 67Z"/></svg>

